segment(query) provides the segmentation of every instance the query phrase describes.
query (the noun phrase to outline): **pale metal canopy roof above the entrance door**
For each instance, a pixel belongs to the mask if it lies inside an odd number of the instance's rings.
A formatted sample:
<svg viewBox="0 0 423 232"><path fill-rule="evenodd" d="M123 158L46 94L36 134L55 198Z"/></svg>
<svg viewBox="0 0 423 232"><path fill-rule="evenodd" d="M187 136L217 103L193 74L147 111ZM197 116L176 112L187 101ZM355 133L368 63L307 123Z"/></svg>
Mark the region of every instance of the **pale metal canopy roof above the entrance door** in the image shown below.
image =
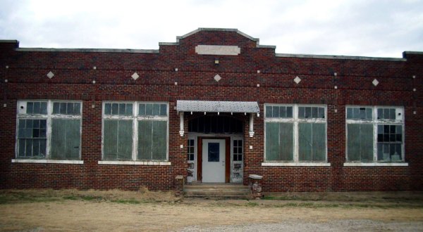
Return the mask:
<svg viewBox="0 0 423 232"><path fill-rule="evenodd" d="M259 113L255 101L176 101L178 112L247 112Z"/></svg>

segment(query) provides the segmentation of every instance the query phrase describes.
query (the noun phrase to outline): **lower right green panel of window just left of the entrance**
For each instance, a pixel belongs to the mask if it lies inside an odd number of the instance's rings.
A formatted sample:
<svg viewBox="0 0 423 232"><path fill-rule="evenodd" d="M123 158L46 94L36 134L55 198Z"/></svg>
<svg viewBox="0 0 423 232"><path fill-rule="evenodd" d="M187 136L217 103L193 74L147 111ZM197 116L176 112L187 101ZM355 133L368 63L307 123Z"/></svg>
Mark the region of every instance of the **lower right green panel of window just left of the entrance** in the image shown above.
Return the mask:
<svg viewBox="0 0 423 232"><path fill-rule="evenodd" d="M166 160L166 138L166 121L138 121L137 160Z"/></svg>

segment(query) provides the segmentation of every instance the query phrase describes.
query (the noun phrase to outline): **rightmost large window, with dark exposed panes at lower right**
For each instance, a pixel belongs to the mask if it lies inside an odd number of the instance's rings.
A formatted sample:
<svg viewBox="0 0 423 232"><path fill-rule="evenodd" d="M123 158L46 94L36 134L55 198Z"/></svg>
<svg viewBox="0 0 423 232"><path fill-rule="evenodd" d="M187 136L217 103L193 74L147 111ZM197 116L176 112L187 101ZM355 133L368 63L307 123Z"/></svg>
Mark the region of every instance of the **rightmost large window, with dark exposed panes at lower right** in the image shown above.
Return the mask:
<svg viewBox="0 0 423 232"><path fill-rule="evenodd" d="M348 162L403 162L403 108L348 106Z"/></svg>

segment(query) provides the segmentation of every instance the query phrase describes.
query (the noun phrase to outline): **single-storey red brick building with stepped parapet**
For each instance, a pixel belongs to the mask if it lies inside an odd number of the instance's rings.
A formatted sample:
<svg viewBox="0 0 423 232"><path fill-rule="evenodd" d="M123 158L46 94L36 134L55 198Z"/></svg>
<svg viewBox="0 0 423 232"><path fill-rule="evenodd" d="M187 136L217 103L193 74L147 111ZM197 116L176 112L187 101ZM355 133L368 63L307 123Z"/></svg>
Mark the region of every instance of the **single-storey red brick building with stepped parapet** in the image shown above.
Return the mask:
<svg viewBox="0 0 423 232"><path fill-rule="evenodd" d="M1 188L423 190L423 53L275 53L233 29L159 50L0 41Z"/></svg>

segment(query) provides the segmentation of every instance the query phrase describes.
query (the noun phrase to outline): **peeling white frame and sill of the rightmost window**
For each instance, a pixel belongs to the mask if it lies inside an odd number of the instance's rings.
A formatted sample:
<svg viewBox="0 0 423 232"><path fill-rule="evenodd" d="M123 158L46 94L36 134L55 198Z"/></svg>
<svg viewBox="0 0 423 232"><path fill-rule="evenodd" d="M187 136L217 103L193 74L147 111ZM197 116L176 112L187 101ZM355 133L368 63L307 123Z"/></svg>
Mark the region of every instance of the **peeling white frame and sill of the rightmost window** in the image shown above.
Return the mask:
<svg viewBox="0 0 423 232"><path fill-rule="evenodd" d="M372 120L357 120L347 119L348 108L372 108ZM400 117L396 117L396 120L385 120L377 118L378 109L395 108L396 115L398 112L401 113ZM408 166L405 162L405 110L402 106L389 106L389 105L345 105L345 167L376 167L376 166ZM348 160L348 124L372 124L373 126L373 162L360 162ZM403 143L401 146L402 160L397 162L386 162L377 160L377 126L383 124L400 125L403 126Z"/></svg>

